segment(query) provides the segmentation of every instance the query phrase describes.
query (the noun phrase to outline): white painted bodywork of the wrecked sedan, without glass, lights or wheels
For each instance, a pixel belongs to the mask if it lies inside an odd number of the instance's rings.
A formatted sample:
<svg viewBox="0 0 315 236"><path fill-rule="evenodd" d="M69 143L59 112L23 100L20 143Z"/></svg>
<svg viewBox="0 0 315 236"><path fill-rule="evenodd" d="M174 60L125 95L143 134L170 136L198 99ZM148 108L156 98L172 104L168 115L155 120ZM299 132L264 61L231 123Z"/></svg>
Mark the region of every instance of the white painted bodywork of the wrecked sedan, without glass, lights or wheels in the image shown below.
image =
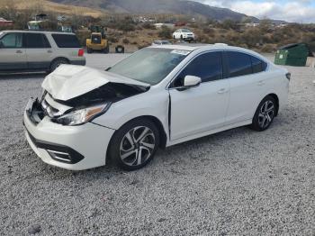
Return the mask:
<svg viewBox="0 0 315 236"><path fill-rule="evenodd" d="M224 45L163 45L155 48L189 50L191 53L159 84L151 86L145 93L113 103L109 110L95 118L93 123L67 127L52 124L45 118L35 127L24 115L25 126L35 138L62 143L85 156L83 162L71 167L49 159L46 150L32 147L40 158L60 168L76 170L94 168L105 165L106 150L113 133L123 124L140 116L153 117L162 124L166 133L167 147L250 124L258 104L266 95L277 95L280 110L286 104L289 88L289 80L285 77L287 71L275 67L272 62L251 50ZM194 57L211 50L238 50L264 59L268 64L266 72L202 83L200 86L184 91L168 89L171 81ZM109 77L108 73L96 72L90 68L77 68L79 73L71 70L72 68L60 68L57 72L57 79L60 81L53 81L54 74L52 74L51 79L45 80L43 87L51 88L54 98L66 99L82 95L109 81L114 80L119 83L131 81L123 77Z"/></svg>

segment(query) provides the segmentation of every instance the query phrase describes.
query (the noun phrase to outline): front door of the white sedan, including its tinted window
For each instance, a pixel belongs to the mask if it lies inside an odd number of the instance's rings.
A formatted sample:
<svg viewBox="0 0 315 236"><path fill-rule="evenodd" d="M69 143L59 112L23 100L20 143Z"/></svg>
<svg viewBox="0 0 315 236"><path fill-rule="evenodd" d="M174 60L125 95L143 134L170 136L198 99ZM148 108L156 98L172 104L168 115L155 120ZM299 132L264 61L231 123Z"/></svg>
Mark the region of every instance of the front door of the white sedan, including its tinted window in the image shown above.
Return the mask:
<svg viewBox="0 0 315 236"><path fill-rule="evenodd" d="M223 79L220 51L197 56L184 68L169 89L171 140L211 131L225 123L229 103L229 80ZM202 78L200 86L185 90L185 76Z"/></svg>

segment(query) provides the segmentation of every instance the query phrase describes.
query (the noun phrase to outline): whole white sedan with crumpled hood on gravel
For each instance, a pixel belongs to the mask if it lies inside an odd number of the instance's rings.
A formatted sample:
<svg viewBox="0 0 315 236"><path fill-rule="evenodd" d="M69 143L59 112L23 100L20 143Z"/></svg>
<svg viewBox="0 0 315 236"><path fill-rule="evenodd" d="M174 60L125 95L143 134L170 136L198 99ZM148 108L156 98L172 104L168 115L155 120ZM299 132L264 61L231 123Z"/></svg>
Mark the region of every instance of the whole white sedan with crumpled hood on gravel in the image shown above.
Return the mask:
<svg viewBox="0 0 315 236"><path fill-rule="evenodd" d="M44 162L72 170L111 158L142 168L157 148L250 125L265 131L287 101L290 74L251 50L148 47L107 71L62 65L23 117Z"/></svg>

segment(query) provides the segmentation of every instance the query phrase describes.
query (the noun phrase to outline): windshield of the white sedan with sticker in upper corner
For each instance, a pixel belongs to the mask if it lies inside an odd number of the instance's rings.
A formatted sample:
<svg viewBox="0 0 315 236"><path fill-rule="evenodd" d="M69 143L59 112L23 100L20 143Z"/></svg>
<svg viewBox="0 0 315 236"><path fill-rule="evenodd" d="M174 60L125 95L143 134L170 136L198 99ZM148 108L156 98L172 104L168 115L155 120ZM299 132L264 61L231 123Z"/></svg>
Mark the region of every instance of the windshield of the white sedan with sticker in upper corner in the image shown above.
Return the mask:
<svg viewBox="0 0 315 236"><path fill-rule="evenodd" d="M157 85L189 53L189 50L147 48L121 60L108 71L150 85Z"/></svg>

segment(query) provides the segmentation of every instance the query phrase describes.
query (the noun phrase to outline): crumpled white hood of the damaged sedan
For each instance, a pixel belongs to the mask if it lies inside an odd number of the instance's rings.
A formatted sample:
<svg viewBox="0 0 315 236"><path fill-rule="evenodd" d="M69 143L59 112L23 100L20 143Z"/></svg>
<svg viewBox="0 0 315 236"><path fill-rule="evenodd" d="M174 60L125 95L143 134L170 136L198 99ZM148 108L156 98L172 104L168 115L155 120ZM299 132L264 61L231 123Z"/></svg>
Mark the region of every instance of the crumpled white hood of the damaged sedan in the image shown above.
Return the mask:
<svg viewBox="0 0 315 236"><path fill-rule="evenodd" d="M135 86L149 86L146 83L110 72L73 65L59 66L44 79L41 86L48 91L54 99L67 101L76 96L84 95L109 82Z"/></svg>

